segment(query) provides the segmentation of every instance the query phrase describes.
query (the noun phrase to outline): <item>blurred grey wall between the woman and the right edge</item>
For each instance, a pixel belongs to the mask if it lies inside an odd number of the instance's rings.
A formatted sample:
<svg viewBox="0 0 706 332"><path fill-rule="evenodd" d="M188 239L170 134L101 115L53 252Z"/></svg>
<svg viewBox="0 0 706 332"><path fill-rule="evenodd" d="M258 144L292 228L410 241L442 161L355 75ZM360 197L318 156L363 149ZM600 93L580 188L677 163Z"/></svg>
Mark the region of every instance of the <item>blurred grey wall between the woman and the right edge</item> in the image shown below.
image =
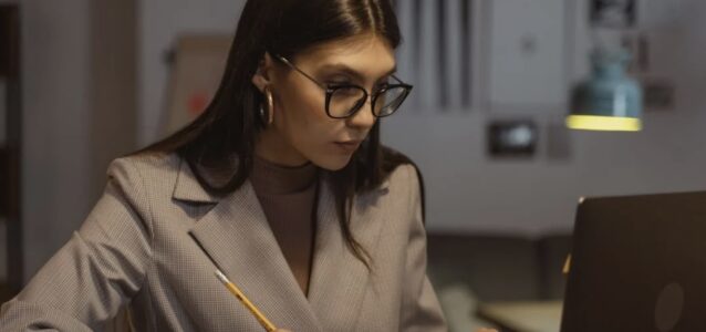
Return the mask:
<svg viewBox="0 0 706 332"><path fill-rule="evenodd" d="M544 33L559 39L540 38L538 52L548 48L551 49L548 55L562 54L553 58L559 61L528 62L539 66L519 69L515 76L476 74L480 76L476 81L480 86L476 90L479 92L470 111L407 107L402 114L385 121L385 142L409 154L426 176L432 231L521 232L530 236L570 231L575 204L581 196L704 189L706 98L703 91L706 66L699 63L706 56L705 49L699 46L704 44L706 30L704 1L638 1L644 17L641 32L650 42L650 75L671 81L676 92L673 108L645 113L645 128L640 133L565 129L563 118L569 106L565 103L532 105L532 95L526 97L528 103L523 105L529 107L488 105L487 89L492 80L512 82L529 79L527 85L519 86L531 90L532 84L551 84L540 75L556 68L560 68L565 76L568 95L571 84L589 73L591 48L585 19L589 1L518 0L496 7L490 2L503 1L477 1L480 6L476 10L484 12L480 20L507 17L503 19L506 24L489 24L496 30L488 31L492 29L477 22L476 30L486 29L475 35L480 40L475 43L479 54L489 52L488 34L511 35L512 32L505 30L517 30L518 25L537 29L534 31L540 33L541 29L551 29L551 32ZM515 4L509 6L510 2ZM564 9L557 11L560 6ZM488 7L505 11L492 13ZM526 7L525 13L522 7ZM531 8L539 10L527 14L532 12ZM564 17L553 15L557 12L563 12ZM542 20L553 24L537 24ZM405 25L403 22L403 27L413 24ZM413 29L407 29L408 35ZM407 43L414 42L407 40ZM557 48L557 44L565 46ZM433 45L427 43L427 48ZM517 48L503 51L520 53L519 41ZM490 56L522 60L519 55L512 58L501 53ZM478 70L488 70L492 60L478 60ZM403 58L401 61L412 60ZM416 84L414 94L424 94L425 90L438 84L424 84L425 80L435 80L435 71L428 71L428 68L439 70L437 63L434 60L424 62L418 70L411 69L401 74L402 77L417 77L412 80ZM512 63L501 65L512 66ZM427 72L418 74L424 71ZM531 75L528 77L525 73ZM533 75L537 75L536 79L532 79ZM523 94L519 89L516 91L516 94L506 97L511 100ZM486 127L498 118L530 118L539 125L538 152L533 157L497 159L487 155Z"/></svg>

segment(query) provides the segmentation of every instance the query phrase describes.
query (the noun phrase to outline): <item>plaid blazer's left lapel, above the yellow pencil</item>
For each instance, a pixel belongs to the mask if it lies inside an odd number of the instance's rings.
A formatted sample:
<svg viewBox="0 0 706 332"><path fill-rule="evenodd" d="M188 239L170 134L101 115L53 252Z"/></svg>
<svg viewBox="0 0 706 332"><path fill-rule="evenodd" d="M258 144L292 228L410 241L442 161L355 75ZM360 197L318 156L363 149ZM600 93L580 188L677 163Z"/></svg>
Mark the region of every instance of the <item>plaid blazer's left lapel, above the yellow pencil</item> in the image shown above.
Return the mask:
<svg viewBox="0 0 706 332"><path fill-rule="evenodd" d="M249 181L222 198L190 234L272 323L293 331L321 331ZM241 305L235 303L233 297L233 305Z"/></svg>

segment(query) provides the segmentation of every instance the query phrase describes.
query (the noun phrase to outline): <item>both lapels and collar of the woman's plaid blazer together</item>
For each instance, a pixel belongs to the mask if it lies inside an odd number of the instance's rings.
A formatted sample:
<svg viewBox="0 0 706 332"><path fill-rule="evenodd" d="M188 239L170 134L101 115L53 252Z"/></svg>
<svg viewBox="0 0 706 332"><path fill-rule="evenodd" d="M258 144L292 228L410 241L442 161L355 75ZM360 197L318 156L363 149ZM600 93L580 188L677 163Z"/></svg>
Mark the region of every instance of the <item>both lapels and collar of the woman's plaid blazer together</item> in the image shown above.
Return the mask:
<svg viewBox="0 0 706 332"><path fill-rule="evenodd" d="M351 231L368 253L377 248L385 219L377 199L387 193L388 184L386 180L380 189L354 199ZM308 332L355 328L370 287L370 272L345 243L325 178L320 179L309 300L291 273L249 181L217 198L198 184L181 162L174 198L215 204L190 235L276 325ZM233 305L241 305L235 297L232 300Z"/></svg>

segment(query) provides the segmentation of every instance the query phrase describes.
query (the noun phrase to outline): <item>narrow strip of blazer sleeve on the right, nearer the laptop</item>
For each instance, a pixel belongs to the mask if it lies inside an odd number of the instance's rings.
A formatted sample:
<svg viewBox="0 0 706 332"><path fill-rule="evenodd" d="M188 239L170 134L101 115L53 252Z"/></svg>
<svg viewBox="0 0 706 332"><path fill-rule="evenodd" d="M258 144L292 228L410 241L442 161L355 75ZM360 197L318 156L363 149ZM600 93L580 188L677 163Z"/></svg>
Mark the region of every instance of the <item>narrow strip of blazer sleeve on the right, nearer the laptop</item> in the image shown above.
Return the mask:
<svg viewBox="0 0 706 332"><path fill-rule="evenodd" d="M447 331L436 293L426 276L426 230L422 216L419 180L409 167L409 201L412 226L404 273L401 331Z"/></svg>

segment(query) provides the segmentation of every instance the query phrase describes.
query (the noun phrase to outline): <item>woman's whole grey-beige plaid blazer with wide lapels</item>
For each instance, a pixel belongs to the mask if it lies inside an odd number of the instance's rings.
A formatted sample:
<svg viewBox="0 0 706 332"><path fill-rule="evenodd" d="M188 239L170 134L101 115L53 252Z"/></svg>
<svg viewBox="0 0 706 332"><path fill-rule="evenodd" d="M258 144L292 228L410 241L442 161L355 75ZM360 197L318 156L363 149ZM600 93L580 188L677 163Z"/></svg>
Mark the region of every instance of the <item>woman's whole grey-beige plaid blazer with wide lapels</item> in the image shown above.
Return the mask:
<svg viewBox="0 0 706 332"><path fill-rule="evenodd" d="M214 197L174 154L116 159L107 173L82 227L2 305L0 331L100 331L123 305L136 331L262 331L216 269L294 332L446 330L425 273L412 166L354 200L351 227L372 256L372 272L346 249L321 180L309 297L248 181Z"/></svg>

